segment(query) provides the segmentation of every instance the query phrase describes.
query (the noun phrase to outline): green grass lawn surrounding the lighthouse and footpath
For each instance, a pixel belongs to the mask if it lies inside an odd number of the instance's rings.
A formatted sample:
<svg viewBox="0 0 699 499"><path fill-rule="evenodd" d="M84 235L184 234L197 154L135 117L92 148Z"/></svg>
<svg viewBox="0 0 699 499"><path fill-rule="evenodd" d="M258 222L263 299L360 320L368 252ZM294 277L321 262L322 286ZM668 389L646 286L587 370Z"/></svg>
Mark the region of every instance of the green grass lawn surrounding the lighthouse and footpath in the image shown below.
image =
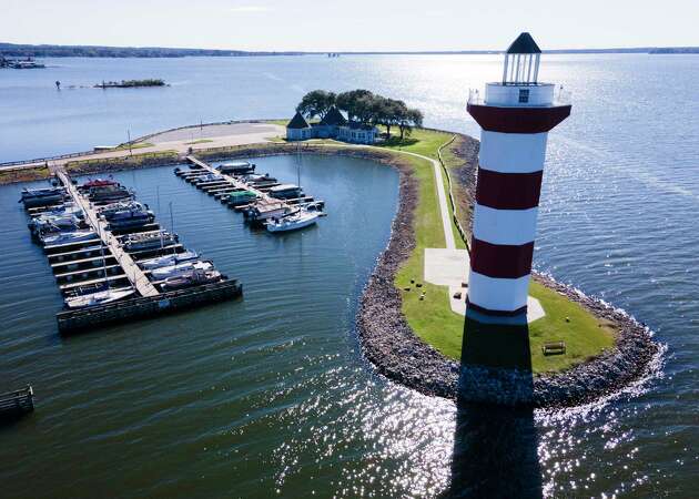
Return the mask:
<svg viewBox="0 0 699 499"><path fill-rule="evenodd" d="M388 143L383 146L437 157L437 149L450 136L448 133L415 130L409 142ZM419 203L414 221L416 247L413 255L398 271L395 285L402 293L403 313L411 328L442 354L460 359L465 318L452 312L447 287L423 281L425 248L445 246L434 171L432 164L425 160L413 156L407 156L407 159L413 164L415 177L419 182ZM447 189L446 179L445 189ZM459 247L465 247L456 232L455 237L457 242L460 242ZM416 286L418 283L422 284L421 287ZM423 293L425 295L421 301ZM527 360L535 373L565 369L614 345L616 332L609 323L596 318L580 305L538 283L531 283L529 293L541 302L546 310L544 318L528 326L530 358ZM510 337L515 333L511 327L499 327L499 329ZM467 339L472 337L470 330L466 328ZM521 328L518 328L518 333L521 333ZM476 332L474 330L473 334L475 338ZM521 338L521 334L515 337ZM492 347L489 350L496 353L496 363L507 359L508 353L506 348L504 349L503 342L497 343L503 336L494 334L490 338L496 343L489 346ZM544 343L558 340L566 342L566 354L544 356L541 353ZM511 343L508 340L505 344ZM520 348L518 354L521 352ZM487 361L484 363L487 364Z"/></svg>

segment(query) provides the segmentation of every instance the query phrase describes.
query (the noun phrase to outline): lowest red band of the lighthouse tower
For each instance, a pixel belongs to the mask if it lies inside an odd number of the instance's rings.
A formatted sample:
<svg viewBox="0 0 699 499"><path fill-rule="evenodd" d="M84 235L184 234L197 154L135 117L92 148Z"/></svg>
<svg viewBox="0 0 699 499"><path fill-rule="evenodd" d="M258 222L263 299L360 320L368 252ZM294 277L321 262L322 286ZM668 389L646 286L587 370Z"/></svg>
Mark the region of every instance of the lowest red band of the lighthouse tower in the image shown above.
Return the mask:
<svg viewBox="0 0 699 499"><path fill-rule="evenodd" d="M470 267L488 277L516 279L531 272L534 241L519 246L472 240Z"/></svg>

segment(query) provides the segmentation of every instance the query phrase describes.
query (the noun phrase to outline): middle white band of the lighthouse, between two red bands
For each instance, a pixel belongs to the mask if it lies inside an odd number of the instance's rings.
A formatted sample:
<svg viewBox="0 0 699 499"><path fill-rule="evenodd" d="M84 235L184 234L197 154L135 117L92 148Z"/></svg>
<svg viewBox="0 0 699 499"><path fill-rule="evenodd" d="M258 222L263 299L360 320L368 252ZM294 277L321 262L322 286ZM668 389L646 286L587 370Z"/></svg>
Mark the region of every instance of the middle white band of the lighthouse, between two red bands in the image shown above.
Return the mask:
<svg viewBox="0 0 699 499"><path fill-rule="evenodd" d="M476 203L474 237L492 244L521 245L536 236L538 208L495 210Z"/></svg>

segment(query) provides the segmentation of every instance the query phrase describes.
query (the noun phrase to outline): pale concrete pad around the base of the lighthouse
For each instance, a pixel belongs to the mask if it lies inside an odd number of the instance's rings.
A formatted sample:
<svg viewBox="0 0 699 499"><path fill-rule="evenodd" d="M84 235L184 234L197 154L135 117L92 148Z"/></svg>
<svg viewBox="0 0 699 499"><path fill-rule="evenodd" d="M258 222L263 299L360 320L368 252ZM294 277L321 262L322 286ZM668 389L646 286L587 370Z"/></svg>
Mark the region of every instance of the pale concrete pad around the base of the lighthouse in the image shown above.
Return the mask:
<svg viewBox="0 0 699 499"><path fill-rule="evenodd" d="M436 284L437 286L447 286L449 288L449 305L452 312L466 315L466 295L468 294L468 272L469 259L466 249L446 249L446 248L425 248L425 282ZM466 284L466 286L463 286ZM460 293L459 298L454 295ZM470 313L469 313L470 315ZM541 303L529 296L527 297L527 323L533 323L546 313ZM482 322L493 320L483 314L477 317ZM523 323L523 318L497 318L498 324L506 324L509 320L513 324Z"/></svg>

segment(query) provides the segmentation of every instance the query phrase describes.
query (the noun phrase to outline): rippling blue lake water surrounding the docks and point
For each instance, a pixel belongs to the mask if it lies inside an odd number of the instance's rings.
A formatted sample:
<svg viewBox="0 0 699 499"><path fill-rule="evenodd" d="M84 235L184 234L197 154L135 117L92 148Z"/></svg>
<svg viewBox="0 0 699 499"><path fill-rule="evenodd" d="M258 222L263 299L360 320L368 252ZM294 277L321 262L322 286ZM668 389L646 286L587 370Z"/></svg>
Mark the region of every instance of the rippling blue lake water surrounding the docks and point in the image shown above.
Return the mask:
<svg viewBox="0 0 699 499"><path fill-rule="evenodd" d="M113 144L126 130L291 116L315 88L367 88L421 108L427 125L477 134L468 88L500 71L486 55L47 62L0 71L0 161ZM0 428L2 496L430 497L453 476L467 487L469 464L496 473L523 455L535 457L523 479L545 495L690 497L699 57L546 55L541 75L571 91L574 110L549 138L535 265L648 324L667 345L659 375L594 407L508 415L497 431L488 415L457 417L450 401L376 377L353 325L397 175L340 157L302 160L330 216L283 237L250 232L170 167L119 174L165 225L173 201L185 245L241 278L245 297L61 339L59 292L17 204L22 185L3 186L0 391L31 381L38 410ZM172 86L68 88L151 77ZM256 162L295 180L295 157Z"/></svg>

